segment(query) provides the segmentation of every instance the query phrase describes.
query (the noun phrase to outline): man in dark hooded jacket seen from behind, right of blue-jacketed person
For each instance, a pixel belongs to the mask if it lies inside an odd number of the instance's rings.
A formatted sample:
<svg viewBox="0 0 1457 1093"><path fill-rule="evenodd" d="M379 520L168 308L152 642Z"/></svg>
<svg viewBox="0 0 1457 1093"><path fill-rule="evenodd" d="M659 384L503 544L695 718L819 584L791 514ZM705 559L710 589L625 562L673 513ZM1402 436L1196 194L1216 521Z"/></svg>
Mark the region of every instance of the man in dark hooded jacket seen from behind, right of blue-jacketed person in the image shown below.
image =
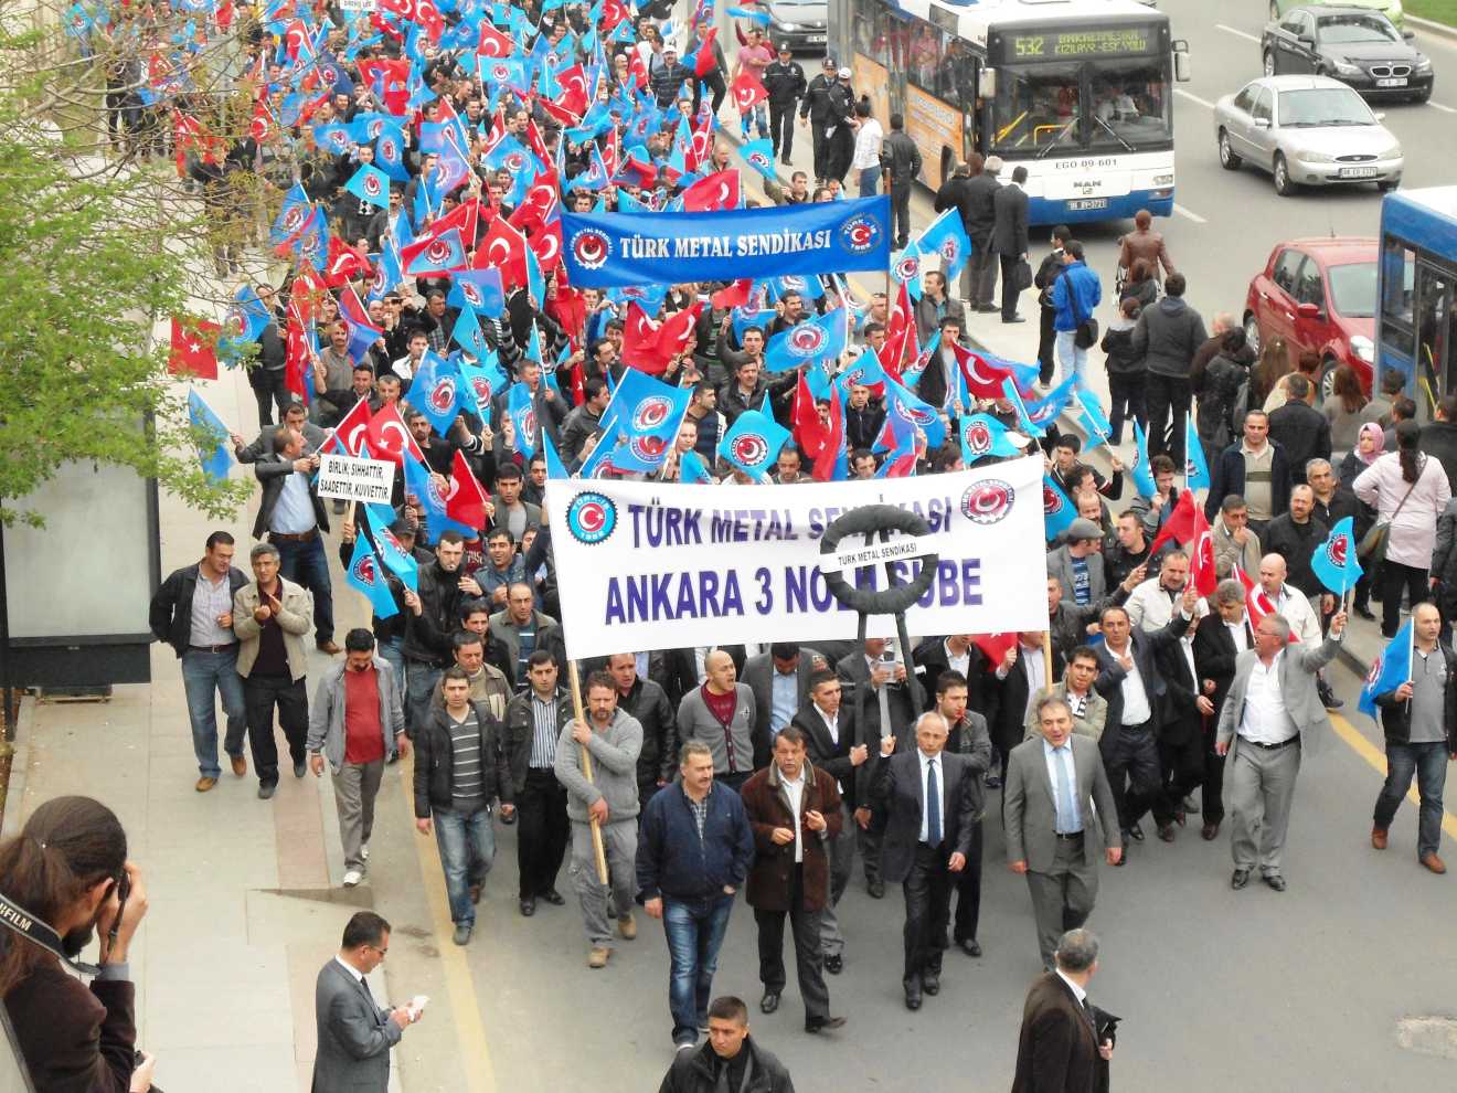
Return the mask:
<svg viewBox="0 0 1457 1093"><path fill-rule="evenodd" d="M1203 318L1183 300L1186 287L1183 274L1169 274L1164 299L1145 307L1134 326L1134 353L1142 354L1148 370L1144 395L1148 407L1148 455L1152 458L1167 452L1174 466L1185 465L1189 367L1199 347L1209 340Z"/></svg>

